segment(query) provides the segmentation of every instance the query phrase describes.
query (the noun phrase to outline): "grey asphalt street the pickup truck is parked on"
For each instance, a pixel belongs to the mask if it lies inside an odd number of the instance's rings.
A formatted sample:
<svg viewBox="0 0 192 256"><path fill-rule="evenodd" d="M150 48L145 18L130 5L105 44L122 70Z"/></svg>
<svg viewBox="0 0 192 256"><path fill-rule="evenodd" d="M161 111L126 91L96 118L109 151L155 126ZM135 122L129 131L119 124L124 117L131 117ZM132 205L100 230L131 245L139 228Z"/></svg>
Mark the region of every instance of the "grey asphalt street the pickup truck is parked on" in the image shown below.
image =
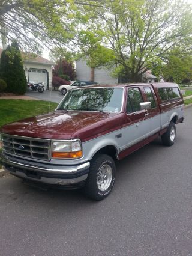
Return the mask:
<svg viewBox="0 0 192 256"><path fill-rule="evenodd" d="M0 178L0 255L192 255L192 108L176 141L117 163L103 201Z"/></svg>

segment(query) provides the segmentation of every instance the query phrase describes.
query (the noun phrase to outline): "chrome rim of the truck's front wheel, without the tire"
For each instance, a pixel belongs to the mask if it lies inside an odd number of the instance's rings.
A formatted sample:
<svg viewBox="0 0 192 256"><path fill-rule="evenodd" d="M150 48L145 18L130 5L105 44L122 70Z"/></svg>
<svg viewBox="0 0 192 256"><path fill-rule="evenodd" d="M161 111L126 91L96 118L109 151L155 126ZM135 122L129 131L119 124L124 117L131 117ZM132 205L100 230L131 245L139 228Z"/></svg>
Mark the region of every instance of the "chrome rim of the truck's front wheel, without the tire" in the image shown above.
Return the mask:
<svg viewBox="0 0 192 256"><path fill-rule="evenodd" d="M113 172L110 165L101 166L97 175L97 186L100 191L105 191L109 188L112 182L112 176Z"/></svg>

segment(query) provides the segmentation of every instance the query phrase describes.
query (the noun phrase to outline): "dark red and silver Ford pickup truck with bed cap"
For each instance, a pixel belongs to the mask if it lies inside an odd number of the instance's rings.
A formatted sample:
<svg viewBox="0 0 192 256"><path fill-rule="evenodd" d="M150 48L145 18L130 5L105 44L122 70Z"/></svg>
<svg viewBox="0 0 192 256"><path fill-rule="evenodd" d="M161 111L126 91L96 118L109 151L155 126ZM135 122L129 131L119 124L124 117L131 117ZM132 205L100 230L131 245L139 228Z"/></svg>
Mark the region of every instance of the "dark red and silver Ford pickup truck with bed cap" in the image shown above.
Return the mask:
<svg viewBox="0 0 192 256"><path fill-rule="evenodd" d="M175 126L183 120L177 84L76 88L55 111L3 126L0 163L25 180L85 187L89 197L101 200L115 183L115 159L158 136L173 145Z"/></svg>

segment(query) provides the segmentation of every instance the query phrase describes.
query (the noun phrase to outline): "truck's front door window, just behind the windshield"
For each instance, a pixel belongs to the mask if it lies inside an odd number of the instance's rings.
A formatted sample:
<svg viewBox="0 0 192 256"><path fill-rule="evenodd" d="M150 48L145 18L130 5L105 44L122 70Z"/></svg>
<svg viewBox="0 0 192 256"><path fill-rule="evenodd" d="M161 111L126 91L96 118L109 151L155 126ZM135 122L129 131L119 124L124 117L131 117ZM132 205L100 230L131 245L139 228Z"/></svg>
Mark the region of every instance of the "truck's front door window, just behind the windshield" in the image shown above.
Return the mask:
<svg viewBox="0 0 192 256"><path fill-rule="evenodd" d="M140 102L143 102L139 88L129 88L127 96L127 113L140 110Z"/></svg>

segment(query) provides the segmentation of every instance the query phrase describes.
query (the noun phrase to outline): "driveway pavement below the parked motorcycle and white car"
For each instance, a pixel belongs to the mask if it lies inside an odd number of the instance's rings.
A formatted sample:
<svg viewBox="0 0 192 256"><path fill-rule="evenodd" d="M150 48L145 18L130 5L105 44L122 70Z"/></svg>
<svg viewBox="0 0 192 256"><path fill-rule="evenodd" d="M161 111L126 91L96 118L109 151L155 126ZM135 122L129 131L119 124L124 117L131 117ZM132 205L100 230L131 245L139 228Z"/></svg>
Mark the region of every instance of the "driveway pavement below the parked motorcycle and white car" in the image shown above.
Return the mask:
<svg viewBox="0 0 192 256"><path fill-rule="evenodd" d="M39 100L47 100L50 102L56 102L59 103L63 99L62 93L59 93L59 91L44 91L43 93L38 93L38 91L32 91L28 90L26 91L26 96L31 96L33 98L37 98Z"/></svg>

